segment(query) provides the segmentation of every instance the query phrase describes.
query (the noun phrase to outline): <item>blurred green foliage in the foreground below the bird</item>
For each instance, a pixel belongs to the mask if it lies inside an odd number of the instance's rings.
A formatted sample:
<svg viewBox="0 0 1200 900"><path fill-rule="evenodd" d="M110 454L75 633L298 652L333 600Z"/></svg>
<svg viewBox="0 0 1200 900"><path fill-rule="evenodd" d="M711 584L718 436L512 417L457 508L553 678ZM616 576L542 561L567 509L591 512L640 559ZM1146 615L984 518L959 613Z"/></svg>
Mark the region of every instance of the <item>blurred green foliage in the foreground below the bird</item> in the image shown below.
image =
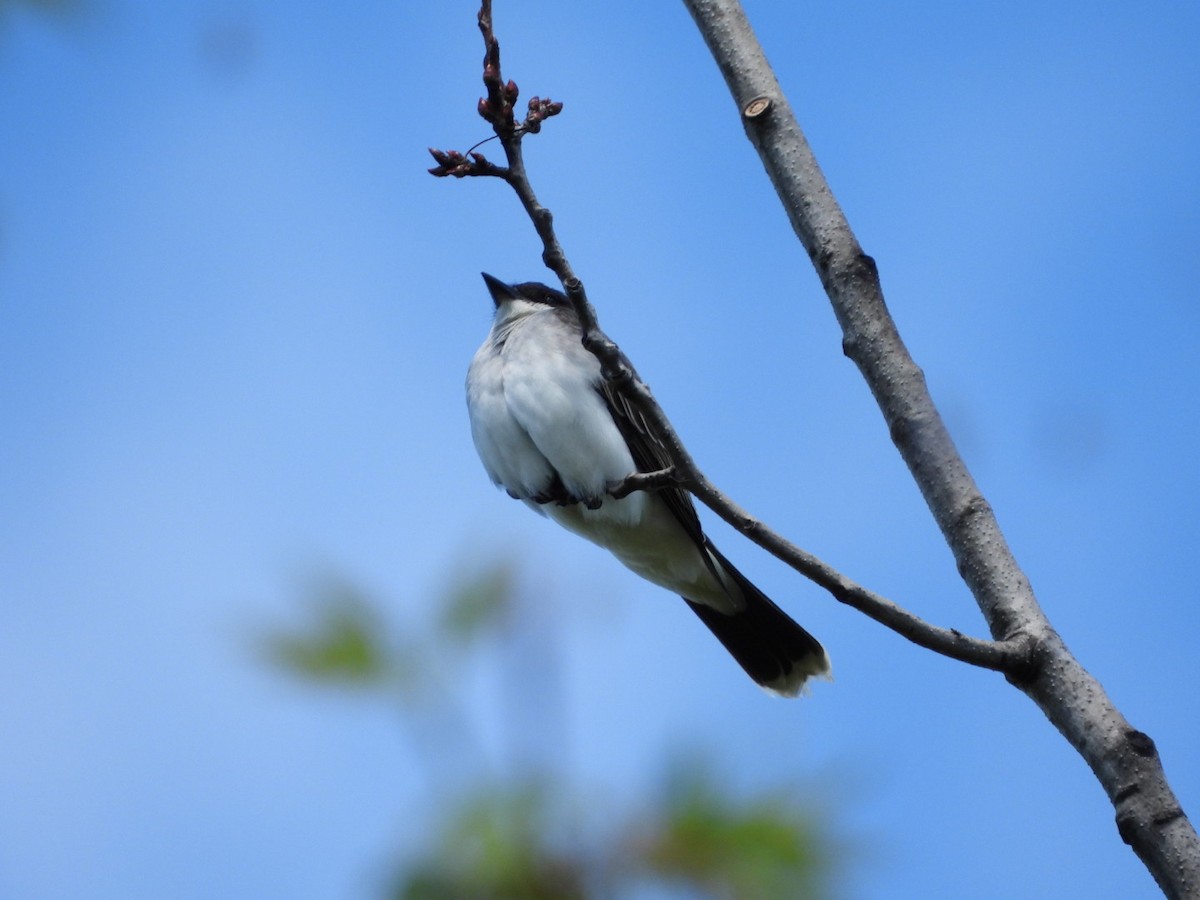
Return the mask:
<svg viewBox="0 0 1200 900"><path fill-rule="evenodd" d="M521 647L528 619L514 614L516 582L505 564L463 577L434 606L434 628L422 640L386 634L392 629L379 606L332 581L312 592L316 614L306 626L264 641L276 665L307 680L383 686L384 696L397 690L416 746L427 749L430 773L452 774L428 826L436 836L397 872L394 898L584 900L654 886L737 900L832 895L840 860L823 838L824 823L787 791L744 800L703 767L676 766L641 818L605 823L595 804L578 803L576 786L562 779L482 790L464 784L454 760L478 742L457 673L488 641ZM512 697L536 702L542 695L520 683L528 671L502 676L517 678ZM592 838L584 842L582 833Z"/></svg>

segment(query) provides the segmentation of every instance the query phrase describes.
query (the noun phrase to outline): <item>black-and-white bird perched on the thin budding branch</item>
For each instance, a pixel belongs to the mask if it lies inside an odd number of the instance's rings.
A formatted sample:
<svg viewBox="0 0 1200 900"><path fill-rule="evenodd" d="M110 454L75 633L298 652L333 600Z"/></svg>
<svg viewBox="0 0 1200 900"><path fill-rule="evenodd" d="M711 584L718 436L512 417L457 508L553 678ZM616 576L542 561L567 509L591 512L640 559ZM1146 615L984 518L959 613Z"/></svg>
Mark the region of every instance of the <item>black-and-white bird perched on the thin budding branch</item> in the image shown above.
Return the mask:
<svg viewBox="0 0 1200 900"><path fill-rule="evenodd" d="M680 595L768 692L794 697L828 678L821 643L713 546L686 491L612 496L671 458L629 389L604 378L566 295L482 277L496 308L467 371L467 410L492 482Z"/></svg>

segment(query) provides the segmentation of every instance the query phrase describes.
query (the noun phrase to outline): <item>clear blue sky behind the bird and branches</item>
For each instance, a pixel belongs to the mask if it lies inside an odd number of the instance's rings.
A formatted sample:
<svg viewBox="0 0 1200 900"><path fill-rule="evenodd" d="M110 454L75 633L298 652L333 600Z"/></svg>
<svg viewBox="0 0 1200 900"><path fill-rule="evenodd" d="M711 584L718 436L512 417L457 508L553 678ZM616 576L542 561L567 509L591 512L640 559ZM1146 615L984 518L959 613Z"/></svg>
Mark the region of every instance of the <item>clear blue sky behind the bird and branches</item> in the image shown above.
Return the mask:
<svg viewBox="0 0 1200 900"><path fill-rule="evenodd" d="M565 103L527 157L606 330L739 503L980 634L683 6L602 6L496 20L505 73ZM834 661L773 700L491 488L479 271L544 271L503 185L425 174L486 137L474 12L0 12L0 895L371 895L439 798L389 710L271 673L253 635L312 577L406 620L512 554L553 604L553 764L596 796L636 804L698 748L834 808L848 896L1152 896L1001 678L716 523ZM748 12L1040 601L1195 814L1200 8Z"/></svg>

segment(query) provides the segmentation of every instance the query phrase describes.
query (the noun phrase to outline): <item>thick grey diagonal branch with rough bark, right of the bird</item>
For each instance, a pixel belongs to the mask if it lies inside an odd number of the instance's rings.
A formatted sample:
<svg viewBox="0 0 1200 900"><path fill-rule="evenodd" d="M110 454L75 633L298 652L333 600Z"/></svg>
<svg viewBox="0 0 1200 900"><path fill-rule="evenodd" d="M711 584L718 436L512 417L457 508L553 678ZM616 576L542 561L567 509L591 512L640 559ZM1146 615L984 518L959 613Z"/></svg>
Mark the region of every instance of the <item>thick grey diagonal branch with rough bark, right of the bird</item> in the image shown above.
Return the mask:
<svg viewBox="0 0 1200 900"><path fill-rule="evenodd" d="M1200 840L1166 782L1153 742L1133 728L1070 654L1033 596L934 406L863 253L737 0L684 0L725 76L792 227L875 395L892 439L997 640L1024 636L1032 667L1009 680L1070 742L1108 792L1122 839L1170 898L1200 896Z"/></svg>

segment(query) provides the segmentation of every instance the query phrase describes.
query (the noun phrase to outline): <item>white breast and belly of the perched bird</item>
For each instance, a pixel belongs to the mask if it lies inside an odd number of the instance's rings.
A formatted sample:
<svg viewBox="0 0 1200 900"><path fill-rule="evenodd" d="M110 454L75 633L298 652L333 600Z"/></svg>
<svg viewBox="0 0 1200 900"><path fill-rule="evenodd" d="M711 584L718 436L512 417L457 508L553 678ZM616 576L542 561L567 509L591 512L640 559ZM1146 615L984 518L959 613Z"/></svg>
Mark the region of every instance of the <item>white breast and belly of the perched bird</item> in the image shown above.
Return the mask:
<svg viewBox="0 0 1200 900"><path fill-rule="evenodd" d="M732 611L738 600L714 578L715 560L661 497L607 494L608 484L636 466L598 390L600 379L600 364L583 348L578 329L553 307L502 304L467 374L470 430L484 467L509 493L608 548L642 577ZM574 497L600 505L535 502L556 474Z"/></svg>

